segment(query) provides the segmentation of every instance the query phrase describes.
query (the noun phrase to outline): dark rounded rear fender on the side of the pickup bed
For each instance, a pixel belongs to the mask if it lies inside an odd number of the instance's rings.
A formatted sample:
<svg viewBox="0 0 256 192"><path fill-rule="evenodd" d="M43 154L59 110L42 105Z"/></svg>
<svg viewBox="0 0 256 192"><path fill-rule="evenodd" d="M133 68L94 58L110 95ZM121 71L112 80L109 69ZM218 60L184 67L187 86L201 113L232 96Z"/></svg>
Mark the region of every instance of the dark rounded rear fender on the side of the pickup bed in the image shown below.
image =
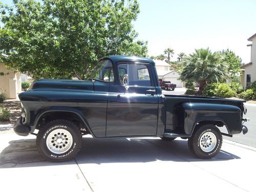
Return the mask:
<svg viewBox="0 0 256 192"><path fill-rule="evenodd" d="M185 134L192 134L201 121L222 122L229 135L242 131L241 110L237 106L216 103L186 102L182 104Z"/></svg>

